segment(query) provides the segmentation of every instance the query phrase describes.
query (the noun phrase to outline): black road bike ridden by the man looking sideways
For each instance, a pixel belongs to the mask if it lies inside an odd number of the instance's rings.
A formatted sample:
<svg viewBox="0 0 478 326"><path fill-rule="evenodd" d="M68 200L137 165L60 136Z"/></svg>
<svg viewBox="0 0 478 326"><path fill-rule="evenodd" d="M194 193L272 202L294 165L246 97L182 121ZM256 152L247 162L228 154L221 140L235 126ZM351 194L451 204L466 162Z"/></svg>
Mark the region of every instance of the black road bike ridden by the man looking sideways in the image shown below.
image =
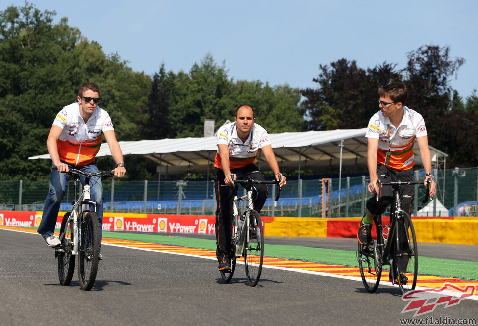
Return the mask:
<svg viewBox="0 0 478 326"><path fill-rule="evenodd" d="M369 180L370 182L370 180ZM398 284L402 293L415 289L418 273L418 246L410 215L401 208L400 186L424 184L423 181L381 182L377 187L392 186L393 197L390 211L390 225L382 225L381 215L374 216L371 229L373 240L369 245L358 242L357 259L362 281L369 292L375 292L380 283L383 265L389 265L389 279ZM427 180L429 188L431 180ZM429 193L426 191L423 203ZM379 195L376 195L378 201ZM373 233L375 230L376 233Z"/></svg>

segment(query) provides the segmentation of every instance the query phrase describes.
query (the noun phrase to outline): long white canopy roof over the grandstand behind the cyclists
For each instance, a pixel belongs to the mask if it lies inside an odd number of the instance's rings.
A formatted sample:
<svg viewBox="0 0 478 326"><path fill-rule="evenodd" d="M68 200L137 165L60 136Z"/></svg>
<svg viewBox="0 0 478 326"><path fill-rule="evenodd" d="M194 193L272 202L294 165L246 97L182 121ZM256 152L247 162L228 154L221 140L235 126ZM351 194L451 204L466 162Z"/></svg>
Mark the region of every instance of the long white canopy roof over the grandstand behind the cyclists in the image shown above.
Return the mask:
<svg viewBox="0 0 478 326"><path fill-rule="evenodd" d="M281 169L329 168L359 166L367 171L367 139L361 129L337 129L328 131L283 132L269 134L272 148ZM158 165L161 174L176 175L185 172L205 173L208 164L214 163L217 151L216 136L198 138L176 138L139 141L120 141L123 155L141 155ZM342 160L341 160L341 143ZM431 155L447 154L430 147ZM415 143L414 151L419 153ZM299 155L300 154L300 155ZM111 155L107 143L101 144L97 157ZM29 159L50 159L49 154L29 157ZM416 156L421 164L420 156ZM259 156L261 170L269 166L264 157Z"/></svg>

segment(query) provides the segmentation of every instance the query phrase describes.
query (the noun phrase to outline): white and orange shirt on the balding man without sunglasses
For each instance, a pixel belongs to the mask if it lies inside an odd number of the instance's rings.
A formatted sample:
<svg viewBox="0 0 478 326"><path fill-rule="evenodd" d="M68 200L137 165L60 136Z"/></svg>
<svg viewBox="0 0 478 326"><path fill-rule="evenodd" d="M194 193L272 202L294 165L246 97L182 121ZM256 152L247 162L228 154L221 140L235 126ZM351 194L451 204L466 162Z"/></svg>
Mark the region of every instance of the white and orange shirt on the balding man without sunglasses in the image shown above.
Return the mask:
<svg viewBox="0 0 478 326"><path fill-rule="evenodd" d="M229 146L230 168L242 168L255 162L259 149L266 145L271 145L269 134L266 129L254 123L246 142L237 136L236 123L231 122L223 125L217 134L217 144L226 144ZM216 168L222 169L221 156L219 149L214 161Z"/></svg>

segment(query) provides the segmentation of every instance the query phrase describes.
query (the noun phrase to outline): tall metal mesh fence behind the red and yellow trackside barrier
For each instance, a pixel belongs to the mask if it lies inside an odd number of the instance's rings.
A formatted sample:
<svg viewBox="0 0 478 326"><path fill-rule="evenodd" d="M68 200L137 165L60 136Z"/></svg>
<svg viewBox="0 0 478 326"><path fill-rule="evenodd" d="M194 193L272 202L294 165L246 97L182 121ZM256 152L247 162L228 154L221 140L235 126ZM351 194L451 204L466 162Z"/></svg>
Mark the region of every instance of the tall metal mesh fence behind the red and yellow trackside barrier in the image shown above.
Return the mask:
<svg viewBox="0 0 478 326"><path fill-rule="evenodd" d="M435 171L437 196L428 216L477 216L478 168ZM424 171L415 171L415 178ZM412 215L422 208L425 188L415 186ZM49 181L0 181L0 210L43 210ZM81 186L78 187L78 193ZM279 201L273 198L276 185L269 187L262 214L266 216L351 217L362 216L370 197L365 176L287 180ZM245 192L245 191L244 191ZM159 213L214 215L216 200L213 181L124 181L103 180L104 211L124 213ZM69 183L61 210L68 211L74 199L74 185ZM443 204L443 209L439 210Z"/></svg>

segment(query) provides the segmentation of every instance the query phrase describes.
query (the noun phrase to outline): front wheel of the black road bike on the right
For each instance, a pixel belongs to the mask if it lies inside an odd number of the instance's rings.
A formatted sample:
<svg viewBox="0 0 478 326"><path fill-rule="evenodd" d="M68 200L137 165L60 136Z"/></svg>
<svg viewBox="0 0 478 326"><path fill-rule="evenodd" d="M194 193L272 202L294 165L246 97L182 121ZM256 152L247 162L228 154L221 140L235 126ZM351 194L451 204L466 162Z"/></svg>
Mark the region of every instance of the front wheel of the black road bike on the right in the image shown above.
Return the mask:
<svg viewBox="0 0 478 326"><path fill-rule="evenodd" d="M395 251L395 268L397 275L404 272L407 280L397 277L397 283L402 293L414 290L417 285L418 275L418 246L410 215L405 212L398 212L398 234L404 236L400 239ZM405 231L406 230L406 231ZM405 265L405 267L403 267ZM410 279L411 278L411 279Z"/></svg>

